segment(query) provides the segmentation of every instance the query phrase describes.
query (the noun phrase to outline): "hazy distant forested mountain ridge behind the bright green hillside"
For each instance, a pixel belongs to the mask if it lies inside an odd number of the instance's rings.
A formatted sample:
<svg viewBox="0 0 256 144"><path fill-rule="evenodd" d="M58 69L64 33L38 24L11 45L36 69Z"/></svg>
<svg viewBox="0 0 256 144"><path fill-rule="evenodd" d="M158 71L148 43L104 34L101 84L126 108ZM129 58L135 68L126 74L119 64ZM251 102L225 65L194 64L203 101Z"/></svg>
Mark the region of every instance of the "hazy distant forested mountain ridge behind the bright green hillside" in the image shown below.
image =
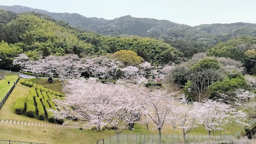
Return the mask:
<svg viewBox="0 0 256 144"><path fill-rule="evenodd" d="M220 38L207 34L204 31L197 30L185 24L178 24L169 20L156 20L149 18L134 18L130 15L116 18L114 20L105 20L103 18L86 18L77 13L54 13L39 9L32 9L25 6L4 6L1 9L13 12L31 12L36 11L47 14L57 20L68 22L72 26L83 28L85 30L95 31L103 35L137 35L150 36L161 39L183 39L186 41L198 41L204 44L216 44Z"/></svg>

